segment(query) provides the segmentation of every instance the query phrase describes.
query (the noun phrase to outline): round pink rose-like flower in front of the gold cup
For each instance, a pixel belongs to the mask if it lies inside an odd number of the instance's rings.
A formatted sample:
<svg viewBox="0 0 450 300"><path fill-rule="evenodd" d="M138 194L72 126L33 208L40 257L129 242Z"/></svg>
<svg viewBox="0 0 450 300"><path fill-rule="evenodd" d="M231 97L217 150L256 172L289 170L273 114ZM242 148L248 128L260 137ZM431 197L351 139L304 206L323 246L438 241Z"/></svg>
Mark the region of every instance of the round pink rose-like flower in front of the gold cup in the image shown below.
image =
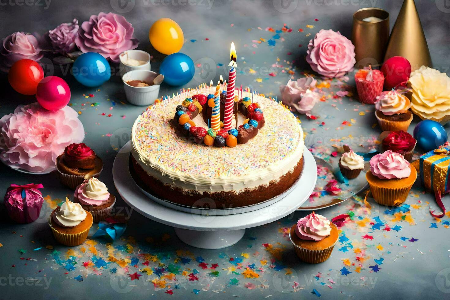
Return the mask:
<svg viewBox="0 0 450 300"><path fill-rule="evenodd" d="M310 40L306 61L320 75L340 77L353 70L355 46L339 31L322 29Z"/></svg>

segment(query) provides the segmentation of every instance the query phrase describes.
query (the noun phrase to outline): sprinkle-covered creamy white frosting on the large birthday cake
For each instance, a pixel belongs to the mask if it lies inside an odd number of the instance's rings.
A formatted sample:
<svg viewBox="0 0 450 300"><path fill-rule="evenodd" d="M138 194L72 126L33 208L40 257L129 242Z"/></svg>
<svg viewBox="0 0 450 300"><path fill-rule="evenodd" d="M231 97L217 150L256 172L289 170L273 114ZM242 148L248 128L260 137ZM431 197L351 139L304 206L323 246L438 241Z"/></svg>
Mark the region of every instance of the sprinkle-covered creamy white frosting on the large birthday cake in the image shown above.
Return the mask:
<svg viewBox="0 0 450 300"><path fill-rule="evenodd" d="M213 94L215 87L190 90L148 107L131 132L132 155L148 175L187 193L257 188L292 172L303 155L303 131L297 118L274 100L256 95L265 125L245 144L215 147L186 141L176 134L176 106L194 94ZM237 92L236 92L237 93ZM251 97L244 92L242 97ZM202 125L202 124L196 124Z"/></svg>

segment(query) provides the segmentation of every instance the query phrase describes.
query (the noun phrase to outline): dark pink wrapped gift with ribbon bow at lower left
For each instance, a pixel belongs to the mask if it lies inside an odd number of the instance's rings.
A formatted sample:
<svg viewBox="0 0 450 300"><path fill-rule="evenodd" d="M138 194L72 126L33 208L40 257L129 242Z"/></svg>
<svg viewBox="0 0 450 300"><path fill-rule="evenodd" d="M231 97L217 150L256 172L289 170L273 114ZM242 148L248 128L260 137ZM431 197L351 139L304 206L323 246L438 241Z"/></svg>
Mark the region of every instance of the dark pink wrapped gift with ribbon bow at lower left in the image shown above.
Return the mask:
<svg viewBox="0 0 450 300"><path fill-rule="evenodd" d="M44 198L38 188L42 184L11 184L4 195L9 217L17 223L31 223L39 217Z"/></svg>

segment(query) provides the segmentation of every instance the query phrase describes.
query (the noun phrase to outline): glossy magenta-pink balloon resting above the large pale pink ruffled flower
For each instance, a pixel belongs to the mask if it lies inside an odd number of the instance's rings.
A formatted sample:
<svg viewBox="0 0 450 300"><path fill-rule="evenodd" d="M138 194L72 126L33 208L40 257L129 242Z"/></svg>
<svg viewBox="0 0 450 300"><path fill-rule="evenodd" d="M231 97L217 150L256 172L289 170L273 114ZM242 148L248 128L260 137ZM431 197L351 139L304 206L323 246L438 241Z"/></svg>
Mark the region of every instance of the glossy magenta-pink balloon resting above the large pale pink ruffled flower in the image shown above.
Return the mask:
<svg viewBox="0 0 450 300"><path fill-rule="evenodd" d="M47 76L37 85L36 99L49 111L63 108L70 101L70 88L63 78Z"/></svg>

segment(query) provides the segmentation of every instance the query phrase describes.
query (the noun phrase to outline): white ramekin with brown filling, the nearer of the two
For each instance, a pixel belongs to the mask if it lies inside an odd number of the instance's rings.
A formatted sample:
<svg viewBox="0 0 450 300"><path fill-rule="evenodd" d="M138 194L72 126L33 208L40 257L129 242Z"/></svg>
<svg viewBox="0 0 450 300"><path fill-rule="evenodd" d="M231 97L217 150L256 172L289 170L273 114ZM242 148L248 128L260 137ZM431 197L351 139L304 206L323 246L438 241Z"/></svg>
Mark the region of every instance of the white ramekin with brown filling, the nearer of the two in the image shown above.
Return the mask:
<svg viewBox="0 0 450 300"><path fill-rule="evenodd" d="M158 74L148 70L134 70L126 72L122 76L123 88L125 89L126 99L134 105L144 106L151 105L158 98L160 85L150 85L144 87L131 86L127 81L140 80L153 83L153 79Z"/></svg>

